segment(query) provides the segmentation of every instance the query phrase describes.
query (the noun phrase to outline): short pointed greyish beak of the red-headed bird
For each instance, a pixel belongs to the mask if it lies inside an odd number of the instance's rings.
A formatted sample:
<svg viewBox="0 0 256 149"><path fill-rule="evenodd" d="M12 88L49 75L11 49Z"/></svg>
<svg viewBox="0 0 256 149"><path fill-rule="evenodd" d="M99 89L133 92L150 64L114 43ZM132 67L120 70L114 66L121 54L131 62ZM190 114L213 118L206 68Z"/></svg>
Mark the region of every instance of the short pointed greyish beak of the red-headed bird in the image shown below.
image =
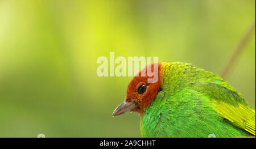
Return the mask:
<svg viewBox="0 0 256 149"><path fill-rule="evenodd" d="M120 114L126 113L126 112L131 112L136 108L136 103L131 101L123 101L121 104L118 105L117 108L115 108L112 116L118 116Z"/></svg>

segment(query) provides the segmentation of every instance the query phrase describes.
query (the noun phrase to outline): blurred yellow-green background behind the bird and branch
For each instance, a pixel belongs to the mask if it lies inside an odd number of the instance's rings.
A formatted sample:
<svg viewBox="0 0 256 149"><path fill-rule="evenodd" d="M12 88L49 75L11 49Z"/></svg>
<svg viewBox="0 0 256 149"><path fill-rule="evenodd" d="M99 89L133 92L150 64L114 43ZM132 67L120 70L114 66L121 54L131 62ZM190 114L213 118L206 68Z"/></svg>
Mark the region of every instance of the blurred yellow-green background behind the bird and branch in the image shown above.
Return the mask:
<svg viewBox="0 0 256 149"><path fill-rule="evenodd" d="M131 77L98 77L100 56L158 56L220 74L254 0L0 0L0 137L141 137L112 118ZM255 31L228 77L255 109Z"/></svg>

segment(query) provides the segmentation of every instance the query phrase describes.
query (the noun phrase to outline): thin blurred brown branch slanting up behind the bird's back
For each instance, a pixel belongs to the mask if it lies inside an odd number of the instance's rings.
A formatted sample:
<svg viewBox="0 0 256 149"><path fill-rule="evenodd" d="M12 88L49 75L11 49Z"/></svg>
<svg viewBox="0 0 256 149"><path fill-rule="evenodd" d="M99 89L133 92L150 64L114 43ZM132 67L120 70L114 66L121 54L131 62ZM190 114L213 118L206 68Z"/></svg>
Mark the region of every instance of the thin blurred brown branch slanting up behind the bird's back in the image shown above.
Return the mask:
<svg viewBox="0 0 256 149"><path fill-rule="evenodd" d="M232 57L230 58L228 65L226 65L223 73L221 74L222 78L226 78L230 74L230 71L233 69L234 64L237 61L238 56L242 53L243 49L245 48L245 45L249 41L251 35L253 35L255 29L255 19L253 23L249 26L247 31L245 32L245 35L243 35L242 39L240 40L239 44L236 46L236 49L234 50L234 53L232 54Z"/></svg>

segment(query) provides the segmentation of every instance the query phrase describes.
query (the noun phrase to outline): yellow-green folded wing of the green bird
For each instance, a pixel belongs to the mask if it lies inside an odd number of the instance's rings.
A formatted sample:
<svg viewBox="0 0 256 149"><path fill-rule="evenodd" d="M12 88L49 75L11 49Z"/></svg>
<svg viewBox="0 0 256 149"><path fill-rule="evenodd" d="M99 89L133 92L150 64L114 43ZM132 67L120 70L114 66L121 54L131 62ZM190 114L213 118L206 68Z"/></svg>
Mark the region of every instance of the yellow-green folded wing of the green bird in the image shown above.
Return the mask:
<svg viewBox="0 0 256 149"><path fill-rule="evenodd" d="M221 118L255 135L255 110L228 83L198 82L193 88L209 96Z"/></svg>

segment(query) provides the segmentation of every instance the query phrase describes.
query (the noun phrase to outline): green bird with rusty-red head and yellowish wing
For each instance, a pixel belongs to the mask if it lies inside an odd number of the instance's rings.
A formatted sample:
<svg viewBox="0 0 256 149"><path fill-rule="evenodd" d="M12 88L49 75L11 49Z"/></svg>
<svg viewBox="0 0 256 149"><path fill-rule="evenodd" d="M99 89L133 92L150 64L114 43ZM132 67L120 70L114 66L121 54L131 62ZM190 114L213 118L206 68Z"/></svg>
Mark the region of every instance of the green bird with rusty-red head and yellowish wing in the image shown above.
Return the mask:
<svg viewBox="0 0 256 149"><path fill-rule="evenodd" d="M155 65L156 82L148 82L152 63L131 79L113 117L138 112L146 138L255 137L255 110L225 79L191 63Z"/></svg>

